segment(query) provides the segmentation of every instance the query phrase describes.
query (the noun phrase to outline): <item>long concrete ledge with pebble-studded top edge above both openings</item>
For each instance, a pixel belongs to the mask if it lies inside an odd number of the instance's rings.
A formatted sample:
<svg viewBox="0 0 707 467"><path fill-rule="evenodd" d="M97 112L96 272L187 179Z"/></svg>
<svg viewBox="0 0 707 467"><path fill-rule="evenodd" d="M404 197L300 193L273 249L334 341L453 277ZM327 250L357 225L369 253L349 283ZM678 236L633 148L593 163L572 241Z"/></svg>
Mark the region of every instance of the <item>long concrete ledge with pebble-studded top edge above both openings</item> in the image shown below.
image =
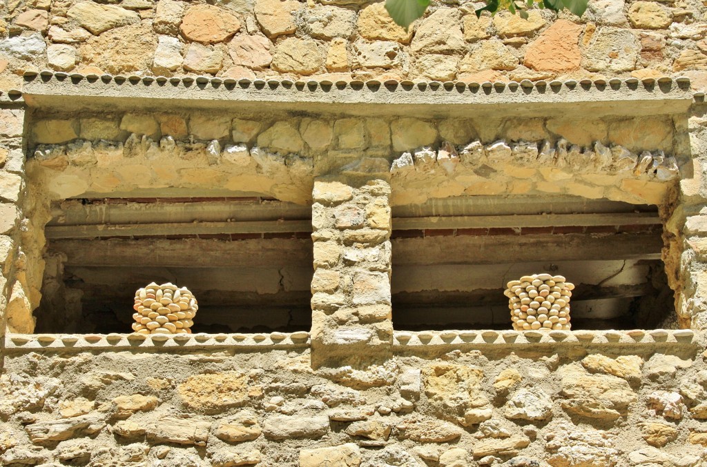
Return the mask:
<svg viewBox="0 0 707 467"><path fill-rule="evenodd" d="M23 88L30 107L62 110L201 107L206 109L306 110L347 114L445 114L507 112L518 117L548 114L568 105L581 112L650 115L685 112L693 95L688 78L658 81L581 80L521 83L415 81L291 81L223 79L206 76L112 76L78 73L26 73ZM634 102L629 105L628 102ZM641 105L635 105L641 102ZM394 104L395 106L391 106ZM578 112L578 110L573 110Z"/></svg>

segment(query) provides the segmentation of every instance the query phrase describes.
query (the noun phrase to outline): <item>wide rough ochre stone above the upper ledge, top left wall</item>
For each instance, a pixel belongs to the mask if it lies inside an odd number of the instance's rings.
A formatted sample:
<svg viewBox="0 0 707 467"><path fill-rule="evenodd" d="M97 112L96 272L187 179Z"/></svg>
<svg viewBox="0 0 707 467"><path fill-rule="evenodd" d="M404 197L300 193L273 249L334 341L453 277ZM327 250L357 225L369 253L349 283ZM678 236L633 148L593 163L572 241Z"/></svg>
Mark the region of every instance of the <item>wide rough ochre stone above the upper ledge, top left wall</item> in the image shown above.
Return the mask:
<svg viewBox="0 0 707 467"><path fill-rule="evenodd" d="M91 37L81 45L79 55L83 64L98 66L106 73L130 73L148 69L156 47L152 29L135 24Z"/></svg>

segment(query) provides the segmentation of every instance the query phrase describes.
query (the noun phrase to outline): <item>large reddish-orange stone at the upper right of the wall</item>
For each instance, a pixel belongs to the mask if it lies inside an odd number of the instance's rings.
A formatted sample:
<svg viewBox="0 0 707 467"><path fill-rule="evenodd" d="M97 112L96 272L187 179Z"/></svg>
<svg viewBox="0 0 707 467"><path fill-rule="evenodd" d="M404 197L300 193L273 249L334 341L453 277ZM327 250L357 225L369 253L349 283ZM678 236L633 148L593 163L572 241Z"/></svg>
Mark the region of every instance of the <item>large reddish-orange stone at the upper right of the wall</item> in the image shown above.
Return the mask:
<svg viewBox="0 0 707 467"><path fill-rule="evenodd" d="M582 26L556 20L527 49L523 64L534 70L569 71L578 69L582 59L579 35Z"/></svg>

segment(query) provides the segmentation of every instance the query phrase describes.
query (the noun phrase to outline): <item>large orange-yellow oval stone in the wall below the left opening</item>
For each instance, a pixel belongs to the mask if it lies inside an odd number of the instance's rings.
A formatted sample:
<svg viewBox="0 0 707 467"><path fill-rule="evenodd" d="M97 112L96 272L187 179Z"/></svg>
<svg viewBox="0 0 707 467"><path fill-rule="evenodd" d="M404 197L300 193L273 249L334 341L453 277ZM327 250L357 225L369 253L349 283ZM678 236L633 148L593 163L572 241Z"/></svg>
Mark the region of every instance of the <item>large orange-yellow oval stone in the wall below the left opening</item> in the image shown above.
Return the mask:
<svg viewBox="0 0 707 467"><path fill-rule="evenodd" d="M238 407L250 397L248 377L233 371L188 377L177 393L185 406L203 413Z"/></svg>

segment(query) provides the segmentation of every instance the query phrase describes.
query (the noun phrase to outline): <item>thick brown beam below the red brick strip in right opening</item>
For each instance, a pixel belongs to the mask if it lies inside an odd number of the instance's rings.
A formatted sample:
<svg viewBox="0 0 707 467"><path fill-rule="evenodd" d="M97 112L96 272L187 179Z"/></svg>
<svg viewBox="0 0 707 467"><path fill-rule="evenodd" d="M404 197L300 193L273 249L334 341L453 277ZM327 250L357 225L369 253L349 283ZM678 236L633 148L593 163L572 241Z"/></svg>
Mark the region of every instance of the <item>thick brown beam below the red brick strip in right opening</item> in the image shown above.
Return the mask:
<svg viewBox="0 0 707 467"><path fill-rule="evenodd" d="M657 233L494 235L392 240L392 264L511 264L531 261L660 259Z"/></svg>

